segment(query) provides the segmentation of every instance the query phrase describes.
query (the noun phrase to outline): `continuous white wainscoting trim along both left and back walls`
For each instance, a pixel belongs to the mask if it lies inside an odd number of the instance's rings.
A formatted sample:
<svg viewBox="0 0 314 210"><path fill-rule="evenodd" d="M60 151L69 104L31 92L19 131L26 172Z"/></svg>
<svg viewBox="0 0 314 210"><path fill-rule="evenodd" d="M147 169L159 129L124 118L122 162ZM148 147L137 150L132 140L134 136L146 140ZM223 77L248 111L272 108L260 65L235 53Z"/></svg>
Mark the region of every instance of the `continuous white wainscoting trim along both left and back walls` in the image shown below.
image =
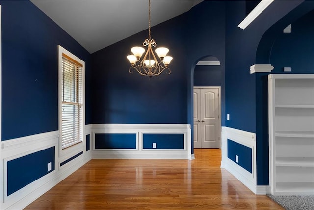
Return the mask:
<svg viewBox="0 0 314 210"><path fill-rule="evenodd" d="M138 139L143 133L182 133L184 134L183 150L94 150L94 133L136 132ZM85 151L86 135L90 134L90 150ZM82 155L60 167L60 163L70 158L72 153L59 156L59 132L52 131L1 142L1 206L0 209L23 209L43 195L61 180L71 175L93 158L162 158L162 159L194 159L191 154L191 127L186 124L90 124L85 126L84 141L81 146ZM7 162L37 151L55 147L54 171L26 185L22 189L7 196ZM23 176L21 174L21 176Z"/></svg>

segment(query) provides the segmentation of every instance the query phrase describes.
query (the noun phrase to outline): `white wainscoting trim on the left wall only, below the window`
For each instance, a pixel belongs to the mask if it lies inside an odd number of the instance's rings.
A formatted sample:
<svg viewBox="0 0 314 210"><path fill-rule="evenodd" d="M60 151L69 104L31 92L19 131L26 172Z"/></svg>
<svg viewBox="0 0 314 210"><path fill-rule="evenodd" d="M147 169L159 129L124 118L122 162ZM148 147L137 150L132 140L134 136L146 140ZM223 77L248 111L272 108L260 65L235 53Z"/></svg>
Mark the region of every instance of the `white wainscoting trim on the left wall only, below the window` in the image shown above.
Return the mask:
<svg viewBox="0 0 314 210"><path fill-rule="evenodd" d="M87 125L85 127L85 134L90 134L91 126ZM52 171L7 196L7 163L11 160L24 158L27 155L52 147L54 147L54 167L52 167ZM78 170L78 168L91 160L92 153L90 151L85 152L84 150L82 155L69 161L67 164L63 165L62 168L60 168L59 164L61 158L58 157L58 148L59 131L40 133L1 142L1 182L3 183L3 188L1 189L2 196L0 198L1 209L25 208L28 204L36 200L57 183L64 180L66 177ZM16 170L18 172L18 169ZM21 176L23 176L23 171L21 172Z"/></svg>

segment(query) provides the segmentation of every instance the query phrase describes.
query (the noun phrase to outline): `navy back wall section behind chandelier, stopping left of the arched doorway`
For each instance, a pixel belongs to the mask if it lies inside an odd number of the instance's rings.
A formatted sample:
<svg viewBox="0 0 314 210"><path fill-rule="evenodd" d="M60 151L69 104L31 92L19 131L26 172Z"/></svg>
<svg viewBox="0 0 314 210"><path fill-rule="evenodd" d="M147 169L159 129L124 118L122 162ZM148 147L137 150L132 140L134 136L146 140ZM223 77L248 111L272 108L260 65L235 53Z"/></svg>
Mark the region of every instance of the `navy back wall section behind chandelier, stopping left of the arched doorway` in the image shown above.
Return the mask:
<svg viewBox="0 0 314 210"><path fill-rule="evenodd" d="M126 56L148 38L148 30L92 54L93 123L187 123L185 50L178 47L184 46L185 20L182 15L152 28L157 47L168 47L174 58L170 75L129 73Z"/></svg>

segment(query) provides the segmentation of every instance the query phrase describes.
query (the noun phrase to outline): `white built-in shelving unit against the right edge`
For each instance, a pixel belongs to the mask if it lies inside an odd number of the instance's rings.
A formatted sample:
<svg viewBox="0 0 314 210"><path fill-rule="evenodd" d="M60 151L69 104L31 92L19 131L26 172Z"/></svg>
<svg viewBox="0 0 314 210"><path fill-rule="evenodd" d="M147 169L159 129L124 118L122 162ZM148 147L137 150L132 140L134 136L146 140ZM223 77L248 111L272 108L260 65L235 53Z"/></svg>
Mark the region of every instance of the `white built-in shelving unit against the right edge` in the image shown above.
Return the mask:
<svg viewBox="0 0 314 210"><path fill-rule="evenodd" d="M273 195L314 194L314 74L268 75Z"/></svg>

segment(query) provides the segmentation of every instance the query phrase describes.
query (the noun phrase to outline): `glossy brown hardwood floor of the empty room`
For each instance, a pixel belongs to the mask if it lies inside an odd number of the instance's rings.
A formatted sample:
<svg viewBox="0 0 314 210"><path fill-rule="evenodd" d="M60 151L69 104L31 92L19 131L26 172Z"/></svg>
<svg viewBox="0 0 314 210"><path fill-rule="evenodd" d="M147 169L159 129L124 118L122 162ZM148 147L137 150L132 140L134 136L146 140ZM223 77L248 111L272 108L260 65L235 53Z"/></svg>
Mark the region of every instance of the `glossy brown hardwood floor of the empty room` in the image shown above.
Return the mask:
<svg viewBox="0 0 314 210"><path fill-rule="evenodd" d="M220 149L195 160L91 160L26 207L33 209L282 209L220 168Z"/></svg>

